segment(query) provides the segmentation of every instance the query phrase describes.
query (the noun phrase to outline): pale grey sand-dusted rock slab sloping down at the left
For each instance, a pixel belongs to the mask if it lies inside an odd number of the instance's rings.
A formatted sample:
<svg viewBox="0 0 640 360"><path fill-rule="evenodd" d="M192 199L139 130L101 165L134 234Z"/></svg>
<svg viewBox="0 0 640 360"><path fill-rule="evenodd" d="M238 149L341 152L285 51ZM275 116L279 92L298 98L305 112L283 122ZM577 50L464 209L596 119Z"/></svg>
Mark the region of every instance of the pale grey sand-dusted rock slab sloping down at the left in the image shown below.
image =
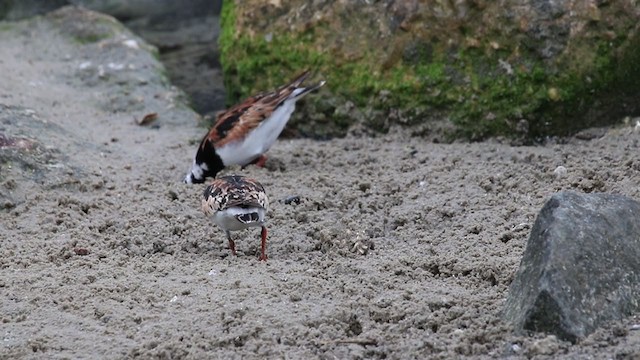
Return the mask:
<svg viewBox="0 0 640 360"><path fill-rule="evenodd" d="M102 164L114 149L140 146L127 172L140 168L139 156L152 158L151 135L136 130L173 138L197 121L157 50L111 16L67 6L0 26L0 213L48 189L109 189ZM135 123L150 113L158 117L151 126ZM78 118L119 125L106 133Z"/></svg>

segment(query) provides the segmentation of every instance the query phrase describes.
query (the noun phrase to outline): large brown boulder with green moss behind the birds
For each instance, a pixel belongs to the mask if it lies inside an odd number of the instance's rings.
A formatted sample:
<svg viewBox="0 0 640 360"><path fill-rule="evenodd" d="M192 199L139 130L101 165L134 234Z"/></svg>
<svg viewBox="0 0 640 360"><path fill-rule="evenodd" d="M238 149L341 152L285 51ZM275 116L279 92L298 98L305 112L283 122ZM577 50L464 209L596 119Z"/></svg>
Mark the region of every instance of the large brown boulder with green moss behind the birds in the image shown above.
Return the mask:
<svg viewBox="0 0 640 360"><path fill-rule="evenodd" d="M312 134L449 116L457 135L536 138L640 113L633 0L228 1L221 23L229 103L326 78L292 122Z"/></svg>

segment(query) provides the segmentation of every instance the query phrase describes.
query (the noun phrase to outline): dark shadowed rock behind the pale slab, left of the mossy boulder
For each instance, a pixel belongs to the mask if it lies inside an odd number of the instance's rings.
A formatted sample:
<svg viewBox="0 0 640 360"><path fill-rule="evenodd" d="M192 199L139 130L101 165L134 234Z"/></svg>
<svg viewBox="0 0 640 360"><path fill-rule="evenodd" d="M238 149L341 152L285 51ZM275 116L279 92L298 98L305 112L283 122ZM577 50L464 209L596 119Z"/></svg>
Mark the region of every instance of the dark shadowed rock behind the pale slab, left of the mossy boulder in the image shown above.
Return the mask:
<svg viewBox="0 0 640 360"><path fill-rule="evenodd" d="M0 0L0 20L24 19L67 4L111 15L158 47L171 81L200 114L224 109L217 47L222 0Z"/></svg>

